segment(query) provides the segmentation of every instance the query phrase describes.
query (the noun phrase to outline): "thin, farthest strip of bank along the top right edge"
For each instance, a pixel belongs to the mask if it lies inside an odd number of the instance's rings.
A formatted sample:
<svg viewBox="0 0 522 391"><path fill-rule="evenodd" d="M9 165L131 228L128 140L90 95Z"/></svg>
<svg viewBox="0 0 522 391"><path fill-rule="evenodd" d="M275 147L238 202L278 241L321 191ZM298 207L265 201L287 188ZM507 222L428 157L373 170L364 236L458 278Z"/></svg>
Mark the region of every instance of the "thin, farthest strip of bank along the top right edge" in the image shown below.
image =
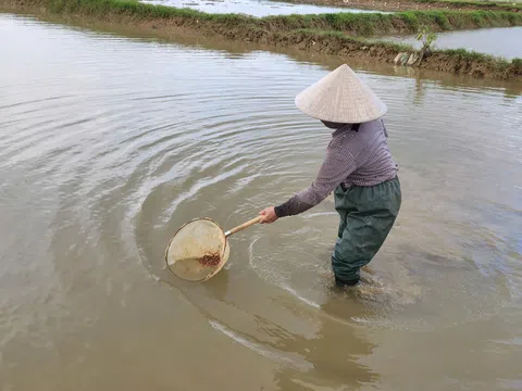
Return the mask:
<svg viewBox="0 0 522 391"><path fill-rule="evenodd" d="M522 12L522 4L515 2L474 2L437 0L278 0L289 3L346 7L380 11L508 11Z"/></svg>

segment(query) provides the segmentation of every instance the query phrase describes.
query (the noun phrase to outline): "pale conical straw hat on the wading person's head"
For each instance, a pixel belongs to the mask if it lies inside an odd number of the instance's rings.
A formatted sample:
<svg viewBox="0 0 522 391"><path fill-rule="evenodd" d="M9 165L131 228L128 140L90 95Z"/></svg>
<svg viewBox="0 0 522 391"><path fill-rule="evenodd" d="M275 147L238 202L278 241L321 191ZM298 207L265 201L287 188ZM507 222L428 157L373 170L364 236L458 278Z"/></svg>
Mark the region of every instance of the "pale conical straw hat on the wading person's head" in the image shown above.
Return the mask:
<svg viewBox="0 0 522 391"><path fill-rule="evenodd" d="M313 118L360 124L377 119L387 108L346 64L296 97L296 105Z"/></svg>

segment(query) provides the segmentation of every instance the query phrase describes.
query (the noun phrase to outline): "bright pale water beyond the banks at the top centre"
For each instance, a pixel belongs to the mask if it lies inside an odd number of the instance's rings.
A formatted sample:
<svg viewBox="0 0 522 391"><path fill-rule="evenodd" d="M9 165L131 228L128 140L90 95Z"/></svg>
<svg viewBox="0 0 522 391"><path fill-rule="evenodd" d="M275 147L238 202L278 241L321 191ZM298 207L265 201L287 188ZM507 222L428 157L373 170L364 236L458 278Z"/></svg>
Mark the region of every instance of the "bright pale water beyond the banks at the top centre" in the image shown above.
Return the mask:
<svg viewBox="0 0 522 391"><path fill-rule="evenodd" d="M177 8L189 8L209 13L240 13L251 16L321 14L336 12L387 13L374 10L356 10L348 8L321 7L312 4L293 4L269 0L140 0L145 3Z"/></svg>

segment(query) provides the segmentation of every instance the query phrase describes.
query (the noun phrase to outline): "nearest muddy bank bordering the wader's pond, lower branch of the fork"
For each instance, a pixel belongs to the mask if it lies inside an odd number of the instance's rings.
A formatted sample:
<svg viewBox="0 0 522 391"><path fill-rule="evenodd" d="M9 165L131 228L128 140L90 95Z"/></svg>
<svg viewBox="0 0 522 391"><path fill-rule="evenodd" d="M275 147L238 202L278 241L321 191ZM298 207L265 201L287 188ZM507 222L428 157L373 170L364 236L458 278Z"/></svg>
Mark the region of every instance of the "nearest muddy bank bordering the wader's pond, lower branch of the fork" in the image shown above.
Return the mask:
<svg viewBox="0 0 522 391"><path fill-rule="evenodd" d="M288 28L288 24L282 24L284 17L253 20L182 10L174 12L166 8L154 8L122 0L99 0L103 7L96 8L94 7L96 1L0 0L0 7L12 10L30 11L33 9L39 12L78 15L84 20L107 21L125 26L161 29L173 34L188 33L279 48L291 47L303 51L334 54L343 59L357 58L394 63L394 59L399 52L413 51L411 48L388 42L368 42L347 36L339 30L303 29L299 28L299 23L293 24L295 28ZM400 25L398 27L400 28ZM476 77L522 78L522 60L520 59L507 62L488 55L468 53L464 50L435 51L425 58L420 66Z"/></svg>

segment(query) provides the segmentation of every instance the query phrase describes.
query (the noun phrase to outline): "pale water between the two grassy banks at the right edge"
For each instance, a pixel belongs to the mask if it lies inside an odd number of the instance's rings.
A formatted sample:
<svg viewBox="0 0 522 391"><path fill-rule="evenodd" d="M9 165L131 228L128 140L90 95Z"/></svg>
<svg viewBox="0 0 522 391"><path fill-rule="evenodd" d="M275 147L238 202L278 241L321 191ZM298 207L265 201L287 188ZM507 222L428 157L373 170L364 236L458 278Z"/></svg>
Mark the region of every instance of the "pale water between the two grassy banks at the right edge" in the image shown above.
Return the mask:
<svg viewBox="0 0 522 391"><path fill-rule="evenodd" d="M414 36L391 37L388 40L411 45L420 49L422 43ZM437 34L435 49L467 49L501 56L507 60L522 59L522 27L483 28Z"/></svg>

